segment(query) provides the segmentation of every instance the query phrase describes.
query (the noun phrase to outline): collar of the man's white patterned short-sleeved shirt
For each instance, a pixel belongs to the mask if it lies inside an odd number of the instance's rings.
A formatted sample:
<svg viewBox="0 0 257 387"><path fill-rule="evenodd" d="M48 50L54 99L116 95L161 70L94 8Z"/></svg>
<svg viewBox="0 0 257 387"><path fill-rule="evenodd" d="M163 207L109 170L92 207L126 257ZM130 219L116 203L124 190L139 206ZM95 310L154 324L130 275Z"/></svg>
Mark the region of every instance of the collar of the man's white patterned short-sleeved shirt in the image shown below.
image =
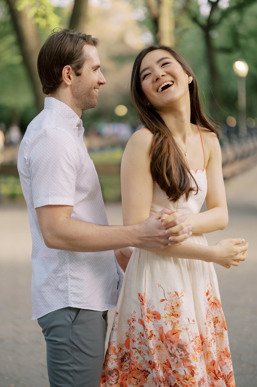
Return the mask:
<svg viewBox="0 0 257 387"><path fill-rule="evenodd" d="M80 132L84 132L82 120L74 112L74 110L66 105L66 103L63 103L59 101L59 99L53 97L46 97L44 108L56 110L68 122L72 129L78 130L78 135Z"/></svg>

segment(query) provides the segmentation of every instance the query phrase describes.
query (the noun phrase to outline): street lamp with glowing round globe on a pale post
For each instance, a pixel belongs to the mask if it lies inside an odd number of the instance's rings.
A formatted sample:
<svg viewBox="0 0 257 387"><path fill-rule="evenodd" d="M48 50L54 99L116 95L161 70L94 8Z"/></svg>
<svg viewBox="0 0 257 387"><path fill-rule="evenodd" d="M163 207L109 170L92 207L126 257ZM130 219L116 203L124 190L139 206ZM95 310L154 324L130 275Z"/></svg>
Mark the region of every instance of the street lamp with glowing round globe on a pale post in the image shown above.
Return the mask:
<svg viewBox="0 0 257 387"><path fill-rule="evenodd" d="M248 73L248 69L248 64L243 59L237 60L233 63L233 70L237 75L237 106L239 118L239 134L242 137L247 135L245 79Z"/></svg>

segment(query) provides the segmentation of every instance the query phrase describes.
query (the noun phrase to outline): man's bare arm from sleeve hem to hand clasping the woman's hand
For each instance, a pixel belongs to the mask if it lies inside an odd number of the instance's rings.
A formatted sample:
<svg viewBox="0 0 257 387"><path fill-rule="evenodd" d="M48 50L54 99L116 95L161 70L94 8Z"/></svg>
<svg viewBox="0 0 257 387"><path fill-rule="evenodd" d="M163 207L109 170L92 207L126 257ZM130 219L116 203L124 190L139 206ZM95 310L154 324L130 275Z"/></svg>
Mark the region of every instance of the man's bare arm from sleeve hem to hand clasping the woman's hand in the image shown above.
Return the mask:
<svg viewBox="0 0 257 387"><path fill-rule="evenodd" d="M173 242L188 238L189 226L184 217L164 209L144 222L132 226L100 226L71 219L73 206L45 205L36 208L37 219L44 242L49 248L76 252L113 250L127 246L139 248L165 248L171 241L169 236L174 227ZM163 226L160 221L171 214L171 222ZM173 215L173 216L172 216ZM166 230L169 229L169 234Z"/></svg>

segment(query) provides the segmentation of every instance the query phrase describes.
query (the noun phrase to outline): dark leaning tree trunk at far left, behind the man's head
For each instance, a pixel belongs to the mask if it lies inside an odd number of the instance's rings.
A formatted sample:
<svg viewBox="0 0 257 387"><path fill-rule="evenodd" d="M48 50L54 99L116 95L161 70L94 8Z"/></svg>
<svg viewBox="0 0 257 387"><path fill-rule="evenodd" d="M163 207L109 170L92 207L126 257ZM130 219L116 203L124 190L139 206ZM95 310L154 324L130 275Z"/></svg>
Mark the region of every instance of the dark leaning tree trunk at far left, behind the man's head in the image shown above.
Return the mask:
<svg viewBox="0 0 257 387"><path fill-rule="evenodd" d="M41 48L37 27L34 20L27 17L29 6L22 11L18 11L15 8L15 0L7 0L7 4L12 17L24 65L32 84L36 108L37 111L41 111L44 108L44 94L37 73L37 56Z"/></svg>

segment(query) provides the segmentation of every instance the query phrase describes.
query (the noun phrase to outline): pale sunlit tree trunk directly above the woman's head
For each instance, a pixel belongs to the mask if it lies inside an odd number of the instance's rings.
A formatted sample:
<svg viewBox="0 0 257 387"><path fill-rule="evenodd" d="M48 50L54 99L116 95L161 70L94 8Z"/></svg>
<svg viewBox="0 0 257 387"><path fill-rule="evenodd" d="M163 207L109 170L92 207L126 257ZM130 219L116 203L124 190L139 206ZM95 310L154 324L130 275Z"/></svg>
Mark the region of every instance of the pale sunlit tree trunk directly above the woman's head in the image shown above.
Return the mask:
<svg viewBox="0 0 257 387"><path fill-rule="evenodd" d="M160 1L159 41L166 46L174 46L173 0Z"/></svg>

